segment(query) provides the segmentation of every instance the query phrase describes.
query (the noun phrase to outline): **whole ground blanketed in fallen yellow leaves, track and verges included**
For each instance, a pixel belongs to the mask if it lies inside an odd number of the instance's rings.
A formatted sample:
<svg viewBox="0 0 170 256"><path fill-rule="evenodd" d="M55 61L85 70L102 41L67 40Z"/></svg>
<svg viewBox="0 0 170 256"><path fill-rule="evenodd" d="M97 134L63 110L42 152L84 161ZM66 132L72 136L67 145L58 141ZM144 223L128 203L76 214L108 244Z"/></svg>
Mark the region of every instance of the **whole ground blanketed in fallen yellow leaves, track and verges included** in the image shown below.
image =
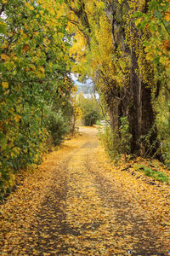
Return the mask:
<svg viewBox="0 0 170 256"><path fill-rule="evenodd" d="M0 255L167 255L169 184L113 166L97 129L80 131L0 206Z"/></svg>

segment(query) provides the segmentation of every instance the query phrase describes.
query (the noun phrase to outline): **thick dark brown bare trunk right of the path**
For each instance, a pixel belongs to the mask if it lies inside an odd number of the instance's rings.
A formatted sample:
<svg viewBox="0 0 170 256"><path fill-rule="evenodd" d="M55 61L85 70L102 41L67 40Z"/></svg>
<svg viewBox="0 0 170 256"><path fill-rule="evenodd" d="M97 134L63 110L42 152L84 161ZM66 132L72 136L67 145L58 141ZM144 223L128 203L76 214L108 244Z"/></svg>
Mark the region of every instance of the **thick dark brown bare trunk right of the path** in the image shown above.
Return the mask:
<svg viewBox="0 0 170 256"><path fill-rule="evenodd" d="M132 152L139 150L139 138L150 131L155 121L153 109L151 107L150 88L147 86L148 84L144 84L144 81L139 78L136 70L139 70L138 58L132 50L129 83L132 100L129 103L128 112L129 128L133 135ZM154 134L152 134L150 143L152 143L156 137L156 134L153 135Z"/></svg>

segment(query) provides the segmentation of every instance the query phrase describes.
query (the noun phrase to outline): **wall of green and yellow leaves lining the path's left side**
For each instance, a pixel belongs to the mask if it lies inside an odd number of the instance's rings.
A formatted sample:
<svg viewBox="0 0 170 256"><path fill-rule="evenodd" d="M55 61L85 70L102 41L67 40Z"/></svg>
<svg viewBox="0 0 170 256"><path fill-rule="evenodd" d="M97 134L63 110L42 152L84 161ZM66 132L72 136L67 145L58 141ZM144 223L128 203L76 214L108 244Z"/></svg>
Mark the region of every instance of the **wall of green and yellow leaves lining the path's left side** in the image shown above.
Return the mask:
<svg viewBox="0 0 170 256"><path fill-rule="evenodd" d="M0 20L0 194L14 185L14 173L40 163L49 136L47 106L65 98L65 106L56 104L56 109L63 108L64 113L66 106L71 107L70 43L65 18L58 18L54 11L58 3L14 0L4 4ZM55 125L59 124L65 124L60 116L55 119Z"/></svg>

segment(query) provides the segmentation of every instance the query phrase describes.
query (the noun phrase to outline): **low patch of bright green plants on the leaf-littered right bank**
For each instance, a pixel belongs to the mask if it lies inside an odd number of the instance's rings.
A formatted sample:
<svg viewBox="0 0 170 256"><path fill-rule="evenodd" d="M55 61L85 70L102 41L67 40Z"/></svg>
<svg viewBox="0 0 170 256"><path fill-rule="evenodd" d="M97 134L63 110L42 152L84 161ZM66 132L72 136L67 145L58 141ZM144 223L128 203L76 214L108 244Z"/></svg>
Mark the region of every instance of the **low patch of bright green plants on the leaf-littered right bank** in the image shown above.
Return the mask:
<svg viewBox="0 0 170 256"><path fill-rule="evenodd" d="M155 180L161 181L162 183L168 183L170 180L170 177L167 177L167 175L163 172L153 171L147 166L143 165L134 165L134 168L136 170L139 170L141 172L144 172L145 176L153 177Z"/></svg>

